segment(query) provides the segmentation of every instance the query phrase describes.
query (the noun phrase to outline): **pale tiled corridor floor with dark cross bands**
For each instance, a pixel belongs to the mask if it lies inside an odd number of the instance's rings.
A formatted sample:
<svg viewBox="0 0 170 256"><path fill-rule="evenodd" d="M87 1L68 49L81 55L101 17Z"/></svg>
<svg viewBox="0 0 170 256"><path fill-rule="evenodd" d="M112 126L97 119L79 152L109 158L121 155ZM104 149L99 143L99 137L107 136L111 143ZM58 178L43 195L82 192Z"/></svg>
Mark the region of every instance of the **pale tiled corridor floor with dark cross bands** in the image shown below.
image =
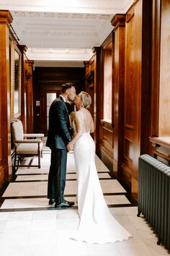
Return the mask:
<svg viewBox="0 0 170 256"><path fill-rule="evenodd" d="M35 159L36 161L36 159ZM55 210L48 205L47 181L50 151L45 148L41 168L19 168L14 181L1 195L1 256L165 256L153 230L128 192L109 175L96 157L99 180L110 212L132 235L128 241L87 244L69 237L79 225L76 204L76 172L73 153L68 154L65 197L73 200L71 209ZM2 192L2 189L1 189Z"/></svg>

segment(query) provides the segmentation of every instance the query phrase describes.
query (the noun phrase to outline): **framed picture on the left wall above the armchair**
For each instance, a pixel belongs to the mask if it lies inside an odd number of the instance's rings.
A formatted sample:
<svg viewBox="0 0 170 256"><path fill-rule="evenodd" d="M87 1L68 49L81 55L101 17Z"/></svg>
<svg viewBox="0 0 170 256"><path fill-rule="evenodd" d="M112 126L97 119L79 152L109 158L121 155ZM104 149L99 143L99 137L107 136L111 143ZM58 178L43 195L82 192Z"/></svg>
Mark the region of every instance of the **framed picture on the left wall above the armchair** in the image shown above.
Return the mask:
<svg viewBox="0 0 170 256"><path fill-rule="evenodd" d="M11 46L11 114L12 118L21 115L21 81L22 81L22 54L12 41Z"/></svg>

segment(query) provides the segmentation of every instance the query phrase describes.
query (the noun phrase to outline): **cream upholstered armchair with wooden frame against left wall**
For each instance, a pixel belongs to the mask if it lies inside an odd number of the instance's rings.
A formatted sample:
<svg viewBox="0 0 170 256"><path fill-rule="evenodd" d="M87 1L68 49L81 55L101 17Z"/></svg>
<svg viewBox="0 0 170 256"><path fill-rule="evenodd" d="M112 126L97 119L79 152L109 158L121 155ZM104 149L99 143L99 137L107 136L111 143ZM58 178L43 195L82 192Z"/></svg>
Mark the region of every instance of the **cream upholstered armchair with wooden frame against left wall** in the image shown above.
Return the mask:
<svg viewBox="0 0 170 256"><path fill-rule="evenodd" d="M40 157L42 157L42 137L43 134L24 134L22 121L17 119L12 123L12 137L14 141L14 171L19 166L22 167L38 167L40 168ZM29 139L28 139L29 138ZM37 165L24 165L22 160L24 157L38 157ZM20 163L20 164L19 164Z"/></svg>

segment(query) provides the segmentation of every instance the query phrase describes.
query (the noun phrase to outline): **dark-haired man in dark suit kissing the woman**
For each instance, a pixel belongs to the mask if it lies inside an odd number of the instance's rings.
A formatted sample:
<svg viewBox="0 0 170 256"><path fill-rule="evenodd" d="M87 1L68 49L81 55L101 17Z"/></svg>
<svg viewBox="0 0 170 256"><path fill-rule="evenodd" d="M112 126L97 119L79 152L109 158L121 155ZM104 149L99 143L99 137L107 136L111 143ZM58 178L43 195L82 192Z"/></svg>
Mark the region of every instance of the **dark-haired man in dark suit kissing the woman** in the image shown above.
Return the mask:
<svg viewBox="0 0 170 256"><path fill-rule="evenodd" d="M48 174L48 198L49 205L55 203L55 208L62 209L74 205L63 197L66 184L66 145L71 141L70 122L66 101L73 101L76 97L76 89L68 82L63 85L59 98L50 106L49 128L46 146L51 149L50 171Z"/></svg>

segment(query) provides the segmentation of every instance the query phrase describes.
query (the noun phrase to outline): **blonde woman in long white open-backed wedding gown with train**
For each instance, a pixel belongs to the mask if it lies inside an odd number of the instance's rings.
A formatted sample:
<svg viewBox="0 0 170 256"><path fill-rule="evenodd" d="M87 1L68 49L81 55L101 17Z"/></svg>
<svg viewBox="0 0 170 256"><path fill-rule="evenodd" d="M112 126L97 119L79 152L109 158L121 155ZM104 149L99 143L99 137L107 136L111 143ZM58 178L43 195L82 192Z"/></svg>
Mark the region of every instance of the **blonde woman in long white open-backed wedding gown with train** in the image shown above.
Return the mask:
<svg viewBox="0 0 170 256"><path fill-rule="evenodd" d="M107 208L95 166L95 145L90 133L94 121L86 109L91 96L81 92L76 96L76 135L68 143L73 148L78 182L79 229L73 239L104 244L128 239L131 234L118 223Z"/></svg>

